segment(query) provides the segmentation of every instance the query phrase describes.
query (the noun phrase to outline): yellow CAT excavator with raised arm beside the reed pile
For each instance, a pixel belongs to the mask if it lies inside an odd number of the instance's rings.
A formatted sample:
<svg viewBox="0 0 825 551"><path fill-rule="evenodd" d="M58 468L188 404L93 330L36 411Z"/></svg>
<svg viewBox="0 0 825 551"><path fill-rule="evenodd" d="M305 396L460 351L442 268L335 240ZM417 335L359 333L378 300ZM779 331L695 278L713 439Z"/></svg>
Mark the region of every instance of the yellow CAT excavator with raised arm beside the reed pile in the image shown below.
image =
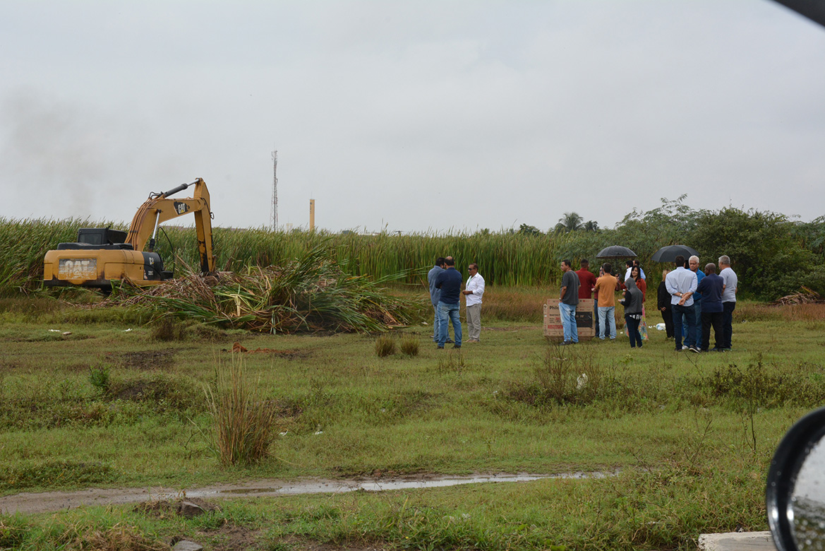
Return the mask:
<svg viewBox="0 0 825 551"><path fill-rule="evenodd" d="M192 197L168 198L193 185ZM134 215L128 235L111 228L81 228L77 242L61 243L56 250L46 253L43 281L49 287L77 285L101 289L111 289L112 282L121 281L141 286L163 283L173 273L163 269L163 259L153 250L158 226L190 213L195 215L200 270L214 272L209 190L198 178L164 193L150 193Z"/></svg>

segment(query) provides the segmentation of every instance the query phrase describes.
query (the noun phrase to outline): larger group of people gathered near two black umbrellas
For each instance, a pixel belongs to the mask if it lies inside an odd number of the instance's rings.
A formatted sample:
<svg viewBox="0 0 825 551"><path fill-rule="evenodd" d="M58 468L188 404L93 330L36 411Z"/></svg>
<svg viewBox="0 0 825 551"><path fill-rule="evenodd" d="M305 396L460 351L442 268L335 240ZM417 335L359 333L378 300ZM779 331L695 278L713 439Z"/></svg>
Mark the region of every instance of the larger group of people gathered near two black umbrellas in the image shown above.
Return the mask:
<svg viewBox="0 0 825 551"><path fill-rule="evenodd" d="M738 278L727 255L716 264L706 264L699 271L699 258L688 262L676 257L676 269L662 272L658 288L658 309L665 321L667 338L676 340L676 350L708 351L710 328L716 338L713 350L729 350L733 335L733 309L736 307ZM628 260L624 278L613 275L611 264L602 264L599 277L590 271L590 263L582 259L581 269L573 272L569 260L561 264L562 283L559 293L559 315L563 327L563 343L576 344L578 330L576 307L579 299L594 300L594 325L600 340L615 340L615 292L624 291L619 303L625 306L625 329L631 348L641 348L647 340L644 301L647 283L638 261ZM682 338L685 339L684 345Z"/></svg>

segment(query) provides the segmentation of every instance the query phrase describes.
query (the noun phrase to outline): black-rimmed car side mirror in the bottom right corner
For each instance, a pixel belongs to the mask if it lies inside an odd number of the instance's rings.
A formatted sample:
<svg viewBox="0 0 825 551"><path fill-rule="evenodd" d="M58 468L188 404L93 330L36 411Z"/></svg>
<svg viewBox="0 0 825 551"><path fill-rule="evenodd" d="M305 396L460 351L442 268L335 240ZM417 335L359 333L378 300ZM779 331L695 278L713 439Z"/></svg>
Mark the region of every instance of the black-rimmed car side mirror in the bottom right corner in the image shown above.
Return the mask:
<svg viewBox="0 0 825 551"><path fill-rule="evenodd" d="M825 407L788 430L768 470L768 525L778 551L825 549Z"/></svg>

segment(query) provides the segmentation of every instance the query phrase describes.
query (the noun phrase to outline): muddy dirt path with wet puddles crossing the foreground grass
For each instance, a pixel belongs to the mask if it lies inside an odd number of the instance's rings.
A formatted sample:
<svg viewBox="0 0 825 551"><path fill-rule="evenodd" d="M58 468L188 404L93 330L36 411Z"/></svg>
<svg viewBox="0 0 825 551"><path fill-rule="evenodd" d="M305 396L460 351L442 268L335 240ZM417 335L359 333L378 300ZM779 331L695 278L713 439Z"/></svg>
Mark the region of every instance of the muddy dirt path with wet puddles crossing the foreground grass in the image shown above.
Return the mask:
<svg viewBox="0 0 825 551"><path fill-rule="evenodd" d="M601 478L615 473L560 473L560 474L493 474L469 477L441 477L436 475L409 475L375 479L328 480L323 478L285 481L261 479L243 484L217 484L210 487L178 489L171 487L151 488L90 488L76 492L19 493L0 497L0 513L33 514L62 511L82 506L107 506L141 503L144 501L172 500L179 497L235 498L257 496L288 496L313 493L342 493L365 490L417 489L457 486L479 482L529 482L543 478Z"/></svg>

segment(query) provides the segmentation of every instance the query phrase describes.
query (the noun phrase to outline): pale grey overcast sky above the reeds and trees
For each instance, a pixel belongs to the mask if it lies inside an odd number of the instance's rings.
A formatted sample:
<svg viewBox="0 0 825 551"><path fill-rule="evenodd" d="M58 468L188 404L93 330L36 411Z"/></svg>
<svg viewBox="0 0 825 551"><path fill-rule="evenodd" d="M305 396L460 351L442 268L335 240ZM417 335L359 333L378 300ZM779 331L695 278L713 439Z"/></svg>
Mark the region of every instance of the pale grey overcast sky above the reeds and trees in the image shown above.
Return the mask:
<svg viewBox="0 0 825 551"><path fill-rule="evenodd" d="M825 28L769 0L2 0L0 74L0 217L269 226L273 150L281 226L825 214Z"/></svg>

